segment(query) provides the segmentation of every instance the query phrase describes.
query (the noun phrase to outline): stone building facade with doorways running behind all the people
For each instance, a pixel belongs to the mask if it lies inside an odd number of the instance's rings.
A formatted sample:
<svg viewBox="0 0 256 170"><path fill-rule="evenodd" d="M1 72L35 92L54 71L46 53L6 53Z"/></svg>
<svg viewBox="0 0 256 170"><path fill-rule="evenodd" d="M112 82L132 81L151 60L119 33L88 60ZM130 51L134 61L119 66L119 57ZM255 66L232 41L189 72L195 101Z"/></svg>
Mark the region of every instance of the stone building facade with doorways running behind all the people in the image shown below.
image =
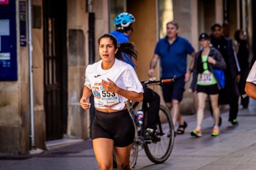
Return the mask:
<svg viewBox="0 0 256 170"><path fill-rule="evenodd" d="M155 44L163 38L165 24L179 23L179 34L198 47L198 34L210 33L213 22L229 22L229 34L244 28L249 35L252 26L250 0L9 0L0 8L14 4L17 42L17 80L0 79L0 153L23 155L32 147L46 148L46 141L55 139L88 139L92 113L80 108L84 73L87 65L98 61L97 38L113 30L113 18L127 11L136 18L130 41L139 51L137 74L148 79L147 71ZM20 2L26 7L25 34L27 46L20 46L22 22ZM28 5L32 9L32 67L29 65ZM225 4L228 2L228 5ZM229 8L227 8L229 6ZM58 10L56 10L58 8ZM230 10L232 8L232 10ZM235 9L235 10L234 10ZM244 13L241 13L245 11ZM228 14L229 18L224 17ZM9 15L0 12L1 20ZM245 18L247 21L244 22ZM1 29L0 29L1 30ZM0 31L1 33L1 31ZM232 38L232 37L231 37ZM250 36L250 43L253 39ZM4 42L1 42L4 43ZM93 56L92 56L93 55ZM1 51L0 51L1 56ZM0 57L1 60L1 57ZM188 61L190 61L188 57ZM0 62L1 63L1 62ZM0 65L0 71L2 65ZM33 93L30 95L30 68ZM155 77L160 78L160 68ZM1 75L1 74L0 74ZM188 84L186 85L186 87ZM154 88L161 94L159 87ZM30 97L33 104L30 107ZM184 93L182 114L195 113L195 96ZM33 128L30 121L33 110ZM31 129L34 130L32 146Z"/></svg>

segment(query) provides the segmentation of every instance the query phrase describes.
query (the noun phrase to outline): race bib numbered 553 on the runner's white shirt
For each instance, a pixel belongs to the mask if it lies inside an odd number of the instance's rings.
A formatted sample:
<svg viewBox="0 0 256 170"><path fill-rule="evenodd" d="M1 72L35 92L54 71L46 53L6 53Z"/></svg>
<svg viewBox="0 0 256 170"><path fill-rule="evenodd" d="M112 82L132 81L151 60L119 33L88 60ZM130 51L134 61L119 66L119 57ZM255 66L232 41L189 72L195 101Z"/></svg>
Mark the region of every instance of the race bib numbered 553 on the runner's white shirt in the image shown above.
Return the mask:
<svg viewBox="0 0 256 170"><path fill-rule="evenodd" d="M105 91L101 83L95 83L95 85L92 86L92 92L94 97L98 100L99 107L113 107L119 103L118 94Z"/></svg>

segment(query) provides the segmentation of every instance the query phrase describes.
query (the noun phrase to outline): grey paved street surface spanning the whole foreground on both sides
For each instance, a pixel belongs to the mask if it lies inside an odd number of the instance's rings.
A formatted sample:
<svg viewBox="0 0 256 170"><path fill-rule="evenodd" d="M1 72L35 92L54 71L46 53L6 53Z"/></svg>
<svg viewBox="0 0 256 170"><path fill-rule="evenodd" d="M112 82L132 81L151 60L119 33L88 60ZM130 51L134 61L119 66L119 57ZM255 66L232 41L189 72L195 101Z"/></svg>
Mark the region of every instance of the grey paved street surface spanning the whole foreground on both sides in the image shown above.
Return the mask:
<svg viewBox="0 0 256 170"><path fill-rule="evenodd" d="M185 134L175 137L173 152L163 164L153 164L145 152L139 152L134 169L256 169L256 101L250 100L249 109L239 109L238 127L228 123L228 110L221 111L221 134L211 136L213 119L208 111L203 120L203 136L190 136L196 127L195 115L184 116L189 126ZM38 155L0 155L0 169L98 169L92 140L47 150Z"/></svg>

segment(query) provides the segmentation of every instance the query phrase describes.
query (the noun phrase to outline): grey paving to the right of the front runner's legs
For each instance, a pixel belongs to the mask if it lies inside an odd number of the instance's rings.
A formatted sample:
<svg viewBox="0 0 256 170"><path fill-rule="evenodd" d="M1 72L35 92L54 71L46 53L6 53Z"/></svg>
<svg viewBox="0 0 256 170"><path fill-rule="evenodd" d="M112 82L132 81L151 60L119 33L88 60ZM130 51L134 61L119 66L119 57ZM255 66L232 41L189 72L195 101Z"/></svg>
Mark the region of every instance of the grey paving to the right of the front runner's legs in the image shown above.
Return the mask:
<svg viewBox="0 0 256 170"><path fill-rule="evenodd" d="M256 101L250 100L248 110L240 109L238 127L228 123L228 111L223 118L221 134L211 137L213 119L207 113L203 120L203 136L190 136L196 127L195 115L183 116L189 123L186 133L176 136L173 152L164 164L152 164L141 152L134 169L256 169Z"/></svg>

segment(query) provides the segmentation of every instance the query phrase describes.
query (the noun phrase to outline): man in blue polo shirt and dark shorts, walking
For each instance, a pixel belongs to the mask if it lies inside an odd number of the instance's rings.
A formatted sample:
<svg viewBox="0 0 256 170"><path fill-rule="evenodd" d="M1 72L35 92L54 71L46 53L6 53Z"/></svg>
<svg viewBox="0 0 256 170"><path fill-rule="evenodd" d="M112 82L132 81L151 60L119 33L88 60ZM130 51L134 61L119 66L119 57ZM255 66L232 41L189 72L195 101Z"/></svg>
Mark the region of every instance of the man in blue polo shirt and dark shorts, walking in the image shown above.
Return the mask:
<svg viewBox="0 0 256 170"><path fill-rule="evenodd" d="M182 100L184 86L190 79L190 73L194 67L195 50L190 42L178 36L178 24L174 21L166 24L166 37L160 39L155 47L155 54L150 62L148 75L152 76L158 59L161 60L161 78L173 78L176 81L162 87L164 101L171 110L173 124L179 121L176 134L184 134L187 127L179 112L179 103ZM192 62L187 70L187 54L192 56Z"/></svg>

